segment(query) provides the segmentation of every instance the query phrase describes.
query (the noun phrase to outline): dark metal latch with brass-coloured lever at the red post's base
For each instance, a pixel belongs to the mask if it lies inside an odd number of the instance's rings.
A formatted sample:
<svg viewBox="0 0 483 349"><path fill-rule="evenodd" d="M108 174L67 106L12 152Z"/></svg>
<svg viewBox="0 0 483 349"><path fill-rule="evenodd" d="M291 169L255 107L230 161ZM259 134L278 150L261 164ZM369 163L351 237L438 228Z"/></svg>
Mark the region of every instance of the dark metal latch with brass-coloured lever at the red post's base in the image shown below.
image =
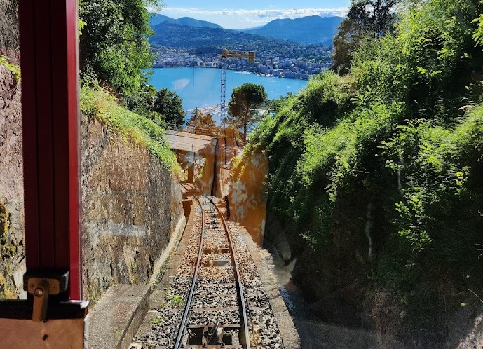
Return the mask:
<svg viewBox="0 0 483 349"><path fill-rule="evenodd" d="M24 289L34 295L32 321L41 322L47 315L48 297L67 291L69 272L27 272L24 275Z"/></svg>

